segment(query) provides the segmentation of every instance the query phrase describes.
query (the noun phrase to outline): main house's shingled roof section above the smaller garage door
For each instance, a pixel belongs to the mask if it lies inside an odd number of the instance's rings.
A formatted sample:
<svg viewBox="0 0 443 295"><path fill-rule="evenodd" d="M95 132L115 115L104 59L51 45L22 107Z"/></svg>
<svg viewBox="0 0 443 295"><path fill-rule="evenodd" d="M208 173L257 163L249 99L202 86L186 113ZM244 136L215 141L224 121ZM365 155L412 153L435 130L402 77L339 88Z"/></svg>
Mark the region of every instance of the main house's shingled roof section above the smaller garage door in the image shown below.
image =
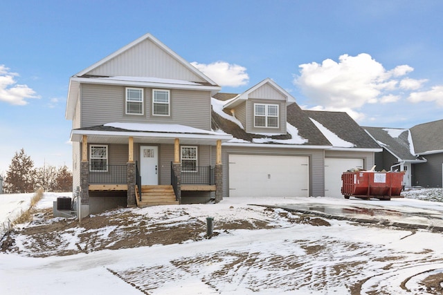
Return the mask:
<svg viewBox="0 0 443 295"><path fill-rule="evenodd" d="M304 111L305 114L320 123L344 142L354 145L355 149L380 149L380 146L372 140L359 124L357 124L350 115L345 112L329 112L329 111ZM329 140L331 141L331 140ZM350 147L343 145L335 145L334 147L340 149L341 147Z"/></svg>

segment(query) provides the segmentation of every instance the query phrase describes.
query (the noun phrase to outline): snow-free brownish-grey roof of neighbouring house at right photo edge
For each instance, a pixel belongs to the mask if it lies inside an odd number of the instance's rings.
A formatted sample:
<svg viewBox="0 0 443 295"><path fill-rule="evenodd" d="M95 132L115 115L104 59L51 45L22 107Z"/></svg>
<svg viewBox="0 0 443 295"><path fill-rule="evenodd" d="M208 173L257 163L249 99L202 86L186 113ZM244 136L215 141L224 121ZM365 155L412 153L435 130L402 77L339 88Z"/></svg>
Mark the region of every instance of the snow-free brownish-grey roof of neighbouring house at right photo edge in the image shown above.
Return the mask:
<svg viewBox="0 0 443 295"><path fill-rule="evenodd" d="M443 120L415 125L410 133L417 155L443 153Z"/></svg>

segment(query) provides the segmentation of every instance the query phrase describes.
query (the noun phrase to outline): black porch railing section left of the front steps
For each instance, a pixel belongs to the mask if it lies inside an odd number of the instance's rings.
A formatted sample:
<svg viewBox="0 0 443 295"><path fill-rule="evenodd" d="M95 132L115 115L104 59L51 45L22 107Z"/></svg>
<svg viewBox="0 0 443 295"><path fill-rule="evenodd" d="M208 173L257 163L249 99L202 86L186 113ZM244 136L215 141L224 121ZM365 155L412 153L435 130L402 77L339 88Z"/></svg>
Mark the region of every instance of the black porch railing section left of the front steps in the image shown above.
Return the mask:
<svg viewBox="0 0 443 295"><path fill-rule="evenodd" d="M89 183L126 184L126 165L89 165Z"/></svg>

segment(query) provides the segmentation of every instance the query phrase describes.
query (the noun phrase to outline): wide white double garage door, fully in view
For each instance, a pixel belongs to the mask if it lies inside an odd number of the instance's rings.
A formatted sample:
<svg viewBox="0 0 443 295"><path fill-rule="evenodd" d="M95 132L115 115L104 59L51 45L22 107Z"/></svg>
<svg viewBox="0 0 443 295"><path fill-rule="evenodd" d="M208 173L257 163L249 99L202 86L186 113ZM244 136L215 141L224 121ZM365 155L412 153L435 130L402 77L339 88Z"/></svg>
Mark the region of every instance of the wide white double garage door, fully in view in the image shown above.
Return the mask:
<svg viewBox="0 0 443 295"><path fill-rule="evenodd" d="M309 193L309 158L229 155L230 197L300 197Z"/></svg>

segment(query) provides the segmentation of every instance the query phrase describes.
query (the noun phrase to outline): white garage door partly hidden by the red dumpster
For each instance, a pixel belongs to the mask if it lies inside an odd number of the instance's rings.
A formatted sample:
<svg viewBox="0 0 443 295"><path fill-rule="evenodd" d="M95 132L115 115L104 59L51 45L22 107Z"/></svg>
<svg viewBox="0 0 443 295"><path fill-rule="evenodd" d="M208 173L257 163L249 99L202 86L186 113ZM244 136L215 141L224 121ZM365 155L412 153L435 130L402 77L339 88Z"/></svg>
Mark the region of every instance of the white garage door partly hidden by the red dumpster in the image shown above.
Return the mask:
<svg viewBox="0 0 443 295"><path fill-rule="evenodd" d="M363 168L363 159L325 158L325 196L343 197L341 175L352 168Z"/></svg>

